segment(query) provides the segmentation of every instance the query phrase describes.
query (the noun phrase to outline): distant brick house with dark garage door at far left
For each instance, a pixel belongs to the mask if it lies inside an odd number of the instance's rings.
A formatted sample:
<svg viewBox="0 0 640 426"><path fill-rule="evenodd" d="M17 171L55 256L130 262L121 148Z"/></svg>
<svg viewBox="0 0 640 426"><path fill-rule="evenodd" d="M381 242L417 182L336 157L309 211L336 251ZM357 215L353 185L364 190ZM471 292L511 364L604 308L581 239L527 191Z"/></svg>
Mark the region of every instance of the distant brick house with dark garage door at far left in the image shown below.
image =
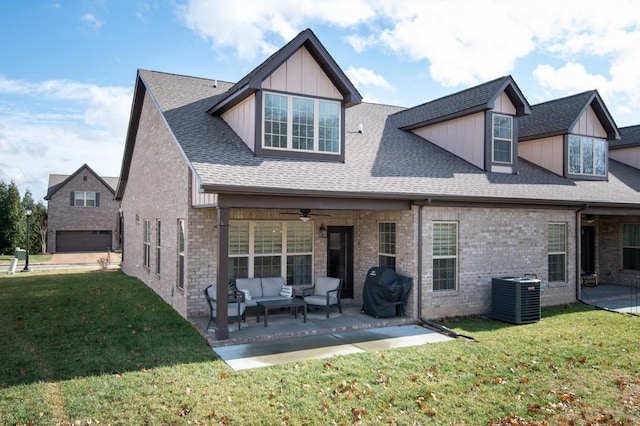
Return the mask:
<svg viewBox="0 0 640 426"><path fill-rule="evenodd" d="M52 253L120 248L117 177L100 177L88 165L72 175L49 175L48 247Z"/></svg>

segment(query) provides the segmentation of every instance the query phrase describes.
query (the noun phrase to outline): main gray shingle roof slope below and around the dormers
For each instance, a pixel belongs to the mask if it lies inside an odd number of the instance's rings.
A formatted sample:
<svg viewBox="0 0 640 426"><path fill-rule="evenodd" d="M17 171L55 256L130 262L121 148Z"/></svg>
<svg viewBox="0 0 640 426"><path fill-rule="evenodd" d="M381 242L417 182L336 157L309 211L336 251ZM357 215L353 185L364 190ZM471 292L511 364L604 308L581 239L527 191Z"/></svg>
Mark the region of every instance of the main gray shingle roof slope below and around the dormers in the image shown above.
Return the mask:
<svg viewBox="0 0 640 426"><path fill-rule="evenodd" d="M411 132L402 108L346 111L344 163L257 157L220 117L206 113L230 83L140 71L177 142L211 190L260 194L640 205L640 173L609 162L608 181L574 181L519 159L519 174L487 173ZM364 133L357 132L362 123Z"/></svg>

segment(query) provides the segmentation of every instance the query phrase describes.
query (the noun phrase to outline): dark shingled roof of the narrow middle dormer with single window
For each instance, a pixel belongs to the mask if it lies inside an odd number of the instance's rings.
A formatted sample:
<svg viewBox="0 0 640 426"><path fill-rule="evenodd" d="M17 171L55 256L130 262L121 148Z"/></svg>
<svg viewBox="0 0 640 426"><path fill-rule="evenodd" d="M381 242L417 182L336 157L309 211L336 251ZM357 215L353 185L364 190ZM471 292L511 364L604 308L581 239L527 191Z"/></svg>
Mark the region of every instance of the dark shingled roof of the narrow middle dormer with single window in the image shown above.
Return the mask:
<svg viewBox="0 0 640 426"><path fill-rule="evenodd" d="M505 90L519 110L518 115L529 113L529 104L520 89L511 76L505 76L399 112L396 114L398 127L415 129L490 109L496 97Z"/></svg>

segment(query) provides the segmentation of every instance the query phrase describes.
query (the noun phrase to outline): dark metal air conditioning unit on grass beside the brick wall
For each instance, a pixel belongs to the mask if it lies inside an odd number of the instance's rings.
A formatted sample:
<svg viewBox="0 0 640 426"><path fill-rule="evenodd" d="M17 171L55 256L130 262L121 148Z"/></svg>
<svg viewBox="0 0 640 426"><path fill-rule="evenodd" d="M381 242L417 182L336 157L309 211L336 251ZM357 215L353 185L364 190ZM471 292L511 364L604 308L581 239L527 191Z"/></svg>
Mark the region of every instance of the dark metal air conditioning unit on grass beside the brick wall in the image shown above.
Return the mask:
<svg viewBox="0 0 640 426"><path fill-rule="evenodd" d="M540 280L529 277L492 278L491 318L512 324L540 321Z"/></svg>

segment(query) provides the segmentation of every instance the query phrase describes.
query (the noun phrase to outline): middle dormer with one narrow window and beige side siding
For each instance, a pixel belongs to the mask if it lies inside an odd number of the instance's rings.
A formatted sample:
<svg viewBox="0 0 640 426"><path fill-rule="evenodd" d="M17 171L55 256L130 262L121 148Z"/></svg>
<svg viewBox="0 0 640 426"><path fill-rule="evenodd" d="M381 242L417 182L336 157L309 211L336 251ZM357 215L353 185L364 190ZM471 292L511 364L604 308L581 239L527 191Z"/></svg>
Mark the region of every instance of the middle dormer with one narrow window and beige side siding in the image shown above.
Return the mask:
<svg viewBox="0 0 640 426"><path fill-rule="evenodd" d="M510 76L395 114L410 131L494 173L518 171L518 117L530 106Z"/></svg>

